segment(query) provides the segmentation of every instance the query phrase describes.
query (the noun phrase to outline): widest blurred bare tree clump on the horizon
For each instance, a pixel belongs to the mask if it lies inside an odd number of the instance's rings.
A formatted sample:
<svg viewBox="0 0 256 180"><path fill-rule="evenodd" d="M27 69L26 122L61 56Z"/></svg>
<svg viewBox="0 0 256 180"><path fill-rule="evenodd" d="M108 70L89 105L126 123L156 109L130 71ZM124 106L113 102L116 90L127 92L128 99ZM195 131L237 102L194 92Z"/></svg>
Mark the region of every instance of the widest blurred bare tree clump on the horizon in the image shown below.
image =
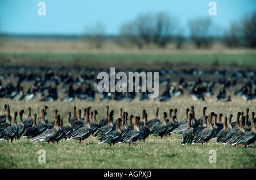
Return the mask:
<svg viewBox="0 0 256 180"><path fill-rule="evenodd" d="M175 21L168 14L141 14L135 20L125 23L120 28L122 37L126 37L137 47L155 44L165 47L175 30Z"/></svg>

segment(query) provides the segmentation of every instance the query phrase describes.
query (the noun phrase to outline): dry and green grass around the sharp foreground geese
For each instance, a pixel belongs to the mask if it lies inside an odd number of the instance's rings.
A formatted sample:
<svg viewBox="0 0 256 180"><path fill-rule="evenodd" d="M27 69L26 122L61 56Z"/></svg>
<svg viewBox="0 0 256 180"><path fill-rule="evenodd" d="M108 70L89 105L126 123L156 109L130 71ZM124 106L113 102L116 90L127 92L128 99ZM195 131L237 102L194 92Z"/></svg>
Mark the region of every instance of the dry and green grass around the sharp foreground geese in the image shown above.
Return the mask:
<svg viewBox="0 0 256 180"><path fill-rule="evenodd" d="M172 98L170 102L156 102L154 100L142 101L134 99L132 102L109 103L101 102L96 97L94 102L84 102L76 99L71 103L56 102L39 102L38 99L31 101L13 102L9 99L2 99L0 107L4 103L9 103L11 112L20 109L27 110L32 108L32 114L39 114L40 109L49 106L48 118L53 117L55 108L59 110L64 124L67 122L68 111L72 112L74 105L83 109L91 106L92 110L97 109L99 115L98 121L105 115L105 106L108 104L115 111L114 119L118 118L119 108L129 114L141 115L145 109L149 118L154 117L155 108L160 108L159 116L163 111L169 108L177 108L177 118L184 118L185 108L191 105L195 106L196 117L202 115L203 106L207 106L207 114L211 111L219 114L222 112L224 116L234 114L233 121L236 120L237 111L245 111L250 108L255 111L255 100L244 101L242 98L233 99L229 103L217 103L215 98L207 98L205 102L193 101L191 97ZM23 116L26 118L26 115ZM129 144L116 144L114 147L109 144L97 144L97 139L89 137L83 144L79 141L60 141L59 144L46 144L39 142L31 142L26 139L14 141L12 144L7 141L0 141L0 168L152 168L152 169L168 169L168 168L256 168L256 144L252 144L249 149L238 145L237 148L229 144L216 144L215 140L210 140L208 145L193 144L181 145L181 135L173 134L163 139L155 139L148 137L146 143L137 142L137 146L129 146ZM38 162L38 151L43 149L46 151L46 163ZM217 163L209 163L209 150L216 150ZM26 162L26 163L24 163Z"/></svg>

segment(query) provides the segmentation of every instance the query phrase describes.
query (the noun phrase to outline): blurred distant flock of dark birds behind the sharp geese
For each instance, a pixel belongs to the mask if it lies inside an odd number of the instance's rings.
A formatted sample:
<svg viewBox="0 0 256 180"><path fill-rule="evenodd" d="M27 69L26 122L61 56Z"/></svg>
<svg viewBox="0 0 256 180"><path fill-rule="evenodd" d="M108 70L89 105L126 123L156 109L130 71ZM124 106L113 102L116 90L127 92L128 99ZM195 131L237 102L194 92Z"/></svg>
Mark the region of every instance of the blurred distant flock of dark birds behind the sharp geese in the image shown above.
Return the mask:
<svg viewBox="0 0 256 180"><path fill-rule="evenodd" d="M63 102L72 102L75 98L94 101L96 93L99 93L96 88L100 81L97 79L97 74L104 69L6 66L0 67L0 70L0 98L29 101L39 97L40 101L61 99ZM126 71L146 72L144 69L127 69ZM195 101L205 101L205 97L216 97L218 102L230 102L232 96L241 96L245 100L256 98L255 72L250 69L198 70L191 68L150 71L159 72L159 83L166 86L155 99L156 101L170 101L172 97L180 97L185 93L191 95ZM64 95L60 96L60 91ZM148 93L103 92L100 99L101 101L133 101L138 97L143 101L148 99Z"/></svg>

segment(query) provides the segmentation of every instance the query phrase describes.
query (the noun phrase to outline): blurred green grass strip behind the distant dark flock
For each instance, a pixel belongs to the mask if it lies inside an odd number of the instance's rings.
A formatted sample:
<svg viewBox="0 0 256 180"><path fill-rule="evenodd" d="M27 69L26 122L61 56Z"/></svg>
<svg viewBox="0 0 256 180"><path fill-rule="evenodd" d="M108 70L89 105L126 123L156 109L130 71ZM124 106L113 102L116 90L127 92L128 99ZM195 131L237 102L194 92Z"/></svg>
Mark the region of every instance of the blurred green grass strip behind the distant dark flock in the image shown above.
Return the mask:
<svg viewBox="0 0 256 180"><path fill-rule="evenodd" d="M2 65L255 65L255 53L0 53ZM1 65L0 64L0 65Z"/></svg>

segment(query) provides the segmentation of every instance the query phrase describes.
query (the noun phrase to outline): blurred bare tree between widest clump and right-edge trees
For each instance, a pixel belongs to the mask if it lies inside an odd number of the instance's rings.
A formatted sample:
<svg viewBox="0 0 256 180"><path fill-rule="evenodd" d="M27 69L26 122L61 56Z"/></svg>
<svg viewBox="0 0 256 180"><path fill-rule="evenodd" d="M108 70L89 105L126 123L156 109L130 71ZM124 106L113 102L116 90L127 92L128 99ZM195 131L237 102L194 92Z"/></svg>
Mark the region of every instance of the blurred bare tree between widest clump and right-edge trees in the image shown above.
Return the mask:
<svg viewBox="0 0 256 180"><path fill-rule="evenodd" d="M188 21L191 40L197 48L208 48L210 45L210 28L212 22L210 18L197 18Z"/></svg>

